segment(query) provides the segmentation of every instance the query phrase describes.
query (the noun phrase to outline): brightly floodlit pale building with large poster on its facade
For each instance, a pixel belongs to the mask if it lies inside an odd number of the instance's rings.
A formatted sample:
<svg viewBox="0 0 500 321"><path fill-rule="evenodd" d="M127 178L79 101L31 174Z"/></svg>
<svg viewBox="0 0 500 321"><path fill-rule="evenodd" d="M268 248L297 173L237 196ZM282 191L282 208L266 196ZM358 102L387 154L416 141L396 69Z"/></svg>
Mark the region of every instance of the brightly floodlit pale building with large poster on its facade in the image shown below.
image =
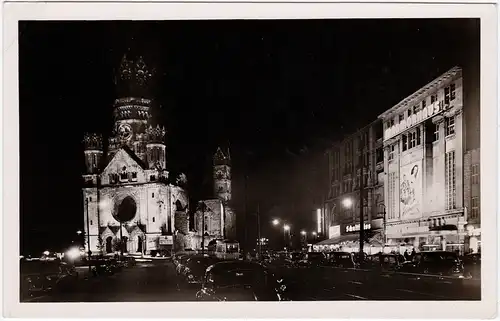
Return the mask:
<svg viewBox="0 0 500 321"><path fill-rule="evenodd" d="M463 252L469 250L469 234L476 231L480 239L477 226L466 226L467 204L475 205L471 210L479 217L479 177L471 179L471 169L478 173L479 140L477 148L466 145L466 125L475 122L463 112L470 108L467 115L479 118L473 100L464 99L462 69L455 67L379 116L389 245ZM475 238L473 251L479 246Z"/></svg>

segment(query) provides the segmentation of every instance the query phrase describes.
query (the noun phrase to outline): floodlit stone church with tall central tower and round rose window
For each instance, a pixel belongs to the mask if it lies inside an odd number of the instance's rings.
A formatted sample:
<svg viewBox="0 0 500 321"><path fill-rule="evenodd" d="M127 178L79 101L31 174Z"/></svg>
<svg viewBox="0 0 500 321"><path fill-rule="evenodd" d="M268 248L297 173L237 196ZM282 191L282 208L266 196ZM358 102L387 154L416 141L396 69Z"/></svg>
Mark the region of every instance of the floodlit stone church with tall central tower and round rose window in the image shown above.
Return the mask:
<svg viewBox="0 0 500 321"><path fill-rule="evenodd" d="M93 254L170 252L179 224L188 224L186 178L169 177L166 130L153 117L153 75L142 57L125 55L106 146L101 134L84 136L84 230Z"/></svg>

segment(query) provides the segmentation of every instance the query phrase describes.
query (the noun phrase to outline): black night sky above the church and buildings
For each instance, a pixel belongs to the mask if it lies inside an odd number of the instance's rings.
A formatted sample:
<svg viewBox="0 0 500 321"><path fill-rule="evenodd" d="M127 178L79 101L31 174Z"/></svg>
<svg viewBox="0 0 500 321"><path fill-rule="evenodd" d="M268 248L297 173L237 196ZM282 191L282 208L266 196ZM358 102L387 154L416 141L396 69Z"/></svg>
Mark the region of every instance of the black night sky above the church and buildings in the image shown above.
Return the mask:
<svg viewBox="0 0 500 321"><path fill-rule="evenodd" d="M244 222L260 204L262 236L287 218L315 226L323 152L455 65L479 60L479 21L269 20L21 22L21 251L60 249L83 228L86 131L109 133L124 53L156 69L167 166L192 201L212 196L212 154L231 148ZM254 219L248 218L249 235Z"/></svg>

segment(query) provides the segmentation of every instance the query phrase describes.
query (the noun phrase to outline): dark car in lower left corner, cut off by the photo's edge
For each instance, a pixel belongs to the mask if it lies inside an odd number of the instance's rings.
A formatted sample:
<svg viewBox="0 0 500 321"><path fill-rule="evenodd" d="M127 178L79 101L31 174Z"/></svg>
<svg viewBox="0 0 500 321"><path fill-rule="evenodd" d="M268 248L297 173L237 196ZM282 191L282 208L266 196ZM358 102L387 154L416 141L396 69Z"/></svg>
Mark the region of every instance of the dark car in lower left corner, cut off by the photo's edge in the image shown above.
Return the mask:
<svg viewBox="0 0 500 321"><path fill-rule="evenodd" d="M59 261L21 261L21 296L41 295L55 289L67 289L77 274L70 265Z"/></svg>

